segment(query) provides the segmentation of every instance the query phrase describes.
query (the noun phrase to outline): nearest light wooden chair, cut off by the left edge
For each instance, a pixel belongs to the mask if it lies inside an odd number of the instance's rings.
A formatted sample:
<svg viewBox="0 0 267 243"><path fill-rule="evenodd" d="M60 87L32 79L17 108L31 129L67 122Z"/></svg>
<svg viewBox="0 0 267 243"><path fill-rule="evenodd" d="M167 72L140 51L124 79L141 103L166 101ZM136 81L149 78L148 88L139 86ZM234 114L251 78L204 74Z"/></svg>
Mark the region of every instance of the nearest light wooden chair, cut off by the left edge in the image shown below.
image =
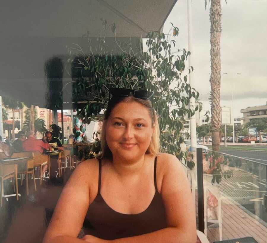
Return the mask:
<svg viewBox="0 0 267 243"><path fill-rule="evenodd" d="M8 158L4 152L0 152L0 159ZM15 191L15 184L16 183L16 196L18 201L18 166L16 163L4 163L0 162L0 181L1 181L1 207L3 204L3 197L4 197L4 181L13 178L13 189Z"/></svg>

